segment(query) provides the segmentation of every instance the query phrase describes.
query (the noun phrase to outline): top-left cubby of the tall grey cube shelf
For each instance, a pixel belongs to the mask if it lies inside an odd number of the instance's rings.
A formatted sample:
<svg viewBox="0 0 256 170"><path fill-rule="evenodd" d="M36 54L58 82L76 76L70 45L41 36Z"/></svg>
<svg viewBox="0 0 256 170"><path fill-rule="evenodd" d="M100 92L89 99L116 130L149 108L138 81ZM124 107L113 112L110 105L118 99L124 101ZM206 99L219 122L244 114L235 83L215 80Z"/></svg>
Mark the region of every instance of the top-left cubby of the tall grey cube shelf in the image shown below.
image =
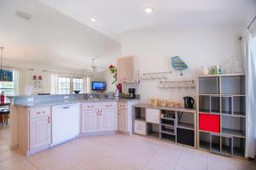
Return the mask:
<svg viewBox="0 0 256 170"><path fill-rule="evenodd" d="M219 94L219 77L200 77L199 94Z"/></svg>

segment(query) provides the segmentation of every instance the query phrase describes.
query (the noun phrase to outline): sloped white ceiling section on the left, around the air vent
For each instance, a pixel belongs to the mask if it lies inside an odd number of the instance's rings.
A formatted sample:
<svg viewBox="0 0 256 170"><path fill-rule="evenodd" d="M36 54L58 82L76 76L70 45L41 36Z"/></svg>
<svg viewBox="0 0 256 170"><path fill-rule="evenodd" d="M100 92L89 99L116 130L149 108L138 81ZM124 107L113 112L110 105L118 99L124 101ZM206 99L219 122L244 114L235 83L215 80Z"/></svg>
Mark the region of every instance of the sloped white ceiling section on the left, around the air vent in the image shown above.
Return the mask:
<svg viewBox="0 0 256 170"><path fill-rule="evenodd" d="M17 10L31 19L17 17ZM89 69L92 58L106 68L120 51L119 42L35 0L0 0L0 46L3 65L15 61L79 70Z"/></svg>

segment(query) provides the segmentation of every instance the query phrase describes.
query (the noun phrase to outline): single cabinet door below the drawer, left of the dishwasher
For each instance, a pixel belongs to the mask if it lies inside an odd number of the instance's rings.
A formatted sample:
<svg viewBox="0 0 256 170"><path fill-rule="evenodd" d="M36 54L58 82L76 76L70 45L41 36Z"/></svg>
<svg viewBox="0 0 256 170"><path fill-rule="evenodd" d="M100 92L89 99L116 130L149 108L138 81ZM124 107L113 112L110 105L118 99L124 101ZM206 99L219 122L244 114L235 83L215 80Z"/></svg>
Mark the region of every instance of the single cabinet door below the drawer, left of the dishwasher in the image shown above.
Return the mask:
<svg viewBox="0 0 256 170"><path fill-rule="evenodd" d="M49 116L30 119L30 150L46 147L50 144Z"/></svg>

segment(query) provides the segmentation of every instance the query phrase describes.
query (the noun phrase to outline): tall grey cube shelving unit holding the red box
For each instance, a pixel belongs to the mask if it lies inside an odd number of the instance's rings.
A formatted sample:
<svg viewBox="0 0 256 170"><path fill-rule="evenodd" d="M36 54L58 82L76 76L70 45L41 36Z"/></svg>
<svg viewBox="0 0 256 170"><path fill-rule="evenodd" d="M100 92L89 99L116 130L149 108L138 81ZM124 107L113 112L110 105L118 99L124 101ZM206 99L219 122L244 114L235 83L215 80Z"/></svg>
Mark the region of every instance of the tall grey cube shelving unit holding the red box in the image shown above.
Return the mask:
<svg viewBox="0 0 256 170"><path fill-rule="evenodd" d="M244 74L199 77L198 149L245 156L246 89Z"/></svg>

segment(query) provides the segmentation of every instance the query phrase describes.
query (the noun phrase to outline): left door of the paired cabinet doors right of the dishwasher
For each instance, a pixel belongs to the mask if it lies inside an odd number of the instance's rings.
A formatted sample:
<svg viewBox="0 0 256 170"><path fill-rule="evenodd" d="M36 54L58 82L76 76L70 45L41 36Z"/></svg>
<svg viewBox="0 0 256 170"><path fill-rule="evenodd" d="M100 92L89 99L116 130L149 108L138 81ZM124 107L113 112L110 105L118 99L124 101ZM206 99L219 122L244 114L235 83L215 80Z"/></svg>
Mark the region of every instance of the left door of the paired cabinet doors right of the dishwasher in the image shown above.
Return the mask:
<svg viewBox="0 0 256 170"><path fill-rule="evenodd" d="M98 110L82 112L82 133L98 131Z"/></svg>

